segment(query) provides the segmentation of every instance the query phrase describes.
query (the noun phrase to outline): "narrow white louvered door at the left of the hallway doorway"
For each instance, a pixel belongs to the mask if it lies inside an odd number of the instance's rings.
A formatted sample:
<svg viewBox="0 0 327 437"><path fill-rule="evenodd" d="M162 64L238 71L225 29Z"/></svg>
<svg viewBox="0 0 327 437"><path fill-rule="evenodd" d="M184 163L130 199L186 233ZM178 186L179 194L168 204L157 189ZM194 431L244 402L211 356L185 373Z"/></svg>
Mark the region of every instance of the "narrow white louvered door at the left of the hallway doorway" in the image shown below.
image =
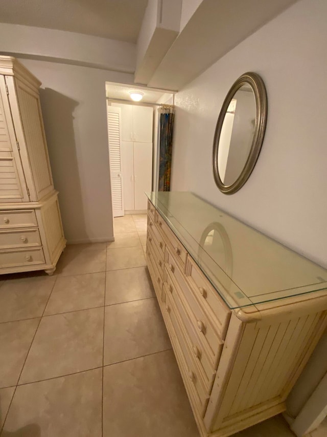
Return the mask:
<svg viewBox="0 0 327 437"><path fill-rule="evenodd" d="M108 106L108 139L113 217L124 215L121 157L121 109Z"/></svg>

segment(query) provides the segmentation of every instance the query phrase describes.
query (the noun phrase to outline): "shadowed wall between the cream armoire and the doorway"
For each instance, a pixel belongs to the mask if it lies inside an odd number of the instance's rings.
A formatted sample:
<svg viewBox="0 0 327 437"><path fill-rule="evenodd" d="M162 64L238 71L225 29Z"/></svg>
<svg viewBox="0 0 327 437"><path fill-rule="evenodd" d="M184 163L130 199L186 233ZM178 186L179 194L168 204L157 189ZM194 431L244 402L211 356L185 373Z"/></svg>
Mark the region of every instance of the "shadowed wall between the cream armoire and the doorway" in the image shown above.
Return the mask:
<svg viewBox="0 0 327 437"><path fill-rule="evenodd" d="M113 237L105 81L132 75L20 59L42 81L40 97L68 242Z"/></svg>

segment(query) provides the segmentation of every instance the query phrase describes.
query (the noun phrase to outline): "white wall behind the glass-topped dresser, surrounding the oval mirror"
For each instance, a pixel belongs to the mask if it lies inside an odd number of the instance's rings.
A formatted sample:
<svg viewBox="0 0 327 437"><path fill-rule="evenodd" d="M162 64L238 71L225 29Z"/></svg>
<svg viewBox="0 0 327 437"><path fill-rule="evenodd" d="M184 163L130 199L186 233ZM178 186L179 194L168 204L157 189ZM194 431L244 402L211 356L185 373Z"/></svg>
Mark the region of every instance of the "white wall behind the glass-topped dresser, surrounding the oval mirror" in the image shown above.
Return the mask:
<svg viewBox="0 0 327 437"><path fill-rule="evenodd" d="M172 190L192 191L327 266L327 2L301 0L227 53L175 96ZM243 188L220 193L212 145L234 80L259 73L268 121Z"/></svg>

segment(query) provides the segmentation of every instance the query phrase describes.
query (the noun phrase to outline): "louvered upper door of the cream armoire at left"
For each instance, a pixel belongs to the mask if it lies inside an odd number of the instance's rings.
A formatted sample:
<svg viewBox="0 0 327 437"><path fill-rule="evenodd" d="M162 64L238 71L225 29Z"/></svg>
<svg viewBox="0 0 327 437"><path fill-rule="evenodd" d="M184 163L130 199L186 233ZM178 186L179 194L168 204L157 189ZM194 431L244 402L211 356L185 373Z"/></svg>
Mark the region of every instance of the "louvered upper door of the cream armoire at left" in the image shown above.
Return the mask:
<svg viewBox="0 0 327 437"><path fill-rule="evenodd" d="M5 77L0 76L0 202L29 202L15 131L13 128Z"/></svg>

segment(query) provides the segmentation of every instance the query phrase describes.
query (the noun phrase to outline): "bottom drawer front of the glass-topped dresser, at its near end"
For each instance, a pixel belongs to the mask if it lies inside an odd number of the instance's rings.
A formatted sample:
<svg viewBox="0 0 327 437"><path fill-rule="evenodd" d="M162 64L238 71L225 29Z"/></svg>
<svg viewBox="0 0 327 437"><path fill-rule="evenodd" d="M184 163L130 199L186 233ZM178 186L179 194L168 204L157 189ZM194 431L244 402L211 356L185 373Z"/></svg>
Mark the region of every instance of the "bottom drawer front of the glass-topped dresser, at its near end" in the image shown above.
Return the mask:
<svg viewBox="0 0 327 437"><path fill-rule="evenodd" d="M208 392L205 390L201 377L199 376L199 373L197 371L196 365L193 361L193 358L191 356L191 353L188 349L188 346L185 343L184 336L181 330L181 327L179 325L179 322L177 321L177 317L175 314L174 307L172 305L172 302L170 300L169 295L166 292L166 303L165 303L165 309L168 313L168 317L171 321L171 324L174 329L174 334L178 340L178 344L180 346L180 352L182 353L184 362L186 364L185 368L185 379L189 379L190 384L192 384L196 392L198 394L198 403L200 406L201 414L203 415L204 409L206 407L207 401L209 399Z"/></svg>

